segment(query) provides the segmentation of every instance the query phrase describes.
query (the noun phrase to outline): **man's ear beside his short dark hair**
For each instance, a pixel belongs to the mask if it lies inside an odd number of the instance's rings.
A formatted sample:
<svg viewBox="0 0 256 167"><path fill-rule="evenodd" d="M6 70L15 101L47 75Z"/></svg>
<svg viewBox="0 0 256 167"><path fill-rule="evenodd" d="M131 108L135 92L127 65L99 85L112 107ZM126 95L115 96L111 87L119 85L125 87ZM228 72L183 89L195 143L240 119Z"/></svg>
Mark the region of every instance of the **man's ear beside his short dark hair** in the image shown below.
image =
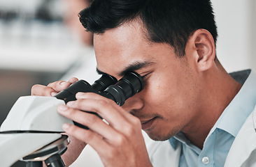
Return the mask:
<svg viewBox="0 0 256 167"><path fill-rule="evenodd" d="M205 71L213 66L215 59L215 42L213 36L206 29L198 29L187 41L190 54L197 70Z"/></svg>

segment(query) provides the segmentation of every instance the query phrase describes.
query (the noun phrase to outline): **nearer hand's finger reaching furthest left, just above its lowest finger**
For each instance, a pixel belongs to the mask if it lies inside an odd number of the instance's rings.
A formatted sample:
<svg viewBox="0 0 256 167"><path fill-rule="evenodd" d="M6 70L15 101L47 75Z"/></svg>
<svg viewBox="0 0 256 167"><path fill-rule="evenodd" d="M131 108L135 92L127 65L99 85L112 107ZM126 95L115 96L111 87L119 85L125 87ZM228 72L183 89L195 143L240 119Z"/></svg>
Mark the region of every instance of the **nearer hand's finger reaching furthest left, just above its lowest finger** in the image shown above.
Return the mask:
<svg viewBox="0 0 256 167"><path fill-rule="evenodd" d="M113 136L118 134L115 129L92 113L72 109L66 105L59 105L57 111L62 116L89 127L92 131L97 132L97 134L100 134L108 141L113 141Z"/></svg>

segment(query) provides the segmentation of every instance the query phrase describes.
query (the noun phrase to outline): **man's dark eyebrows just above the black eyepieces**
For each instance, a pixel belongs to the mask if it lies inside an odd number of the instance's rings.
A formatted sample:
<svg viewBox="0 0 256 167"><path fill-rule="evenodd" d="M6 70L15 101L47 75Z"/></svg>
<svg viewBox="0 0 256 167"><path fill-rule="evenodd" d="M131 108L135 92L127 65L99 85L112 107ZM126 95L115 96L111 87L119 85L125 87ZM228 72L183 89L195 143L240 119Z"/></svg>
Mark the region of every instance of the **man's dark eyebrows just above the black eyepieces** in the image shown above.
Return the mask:
<svg viewBox="0 0 256 167"><path fill-rule="evenodd" d="M148 67L150 65L155 64L154 62L151 61L143 61L143 62L139 62L136 61L134 63L131 63L130 65L128 65L127 67L125 67L125 70L122 70L122 72L120 72L118 75L120 77L124 76L127 72L131 72L131 71L135 71L135 70L139 70L143 67ZM96 68L96 71L98 74L107 74L105 72L101 72L101 70L99 70L98 68Z"/></svg>

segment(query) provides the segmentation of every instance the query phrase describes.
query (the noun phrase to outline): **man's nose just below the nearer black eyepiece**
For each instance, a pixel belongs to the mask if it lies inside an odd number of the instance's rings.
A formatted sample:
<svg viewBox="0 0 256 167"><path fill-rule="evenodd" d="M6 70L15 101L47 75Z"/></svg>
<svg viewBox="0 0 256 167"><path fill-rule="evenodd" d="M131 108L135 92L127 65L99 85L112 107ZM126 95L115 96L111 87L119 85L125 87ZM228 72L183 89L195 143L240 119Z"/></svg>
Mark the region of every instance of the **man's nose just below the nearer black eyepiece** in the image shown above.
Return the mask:
<svg viewBox="0 0 256 167"><path fill-rule="evenodd" d="M127 112L135 109L142 109L142 108L143 108L143 101L141 100L141 98L138 98L137 95L130 97L125 101L125 104L122 105L122 109L125 109L125 111Z"/></svg>

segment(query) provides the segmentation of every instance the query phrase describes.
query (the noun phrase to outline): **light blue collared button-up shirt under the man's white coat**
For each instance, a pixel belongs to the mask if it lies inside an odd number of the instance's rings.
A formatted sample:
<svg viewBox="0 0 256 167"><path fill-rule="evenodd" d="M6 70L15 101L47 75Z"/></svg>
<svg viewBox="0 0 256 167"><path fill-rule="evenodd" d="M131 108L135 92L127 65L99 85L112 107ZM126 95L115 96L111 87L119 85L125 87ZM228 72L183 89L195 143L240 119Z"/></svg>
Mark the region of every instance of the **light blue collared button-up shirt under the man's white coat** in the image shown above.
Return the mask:
<svg viewBox="0 0 256 167"><path fill-rule="evenodd" d="M234 72L231 75L243 86L215 122L204 141L203 150L190 143L182 132L169 139L174 149L178 142L183 145L180 154L180 167L224 166L234 138L256 104L256 74L250 70L245 70Z"/></svg>

